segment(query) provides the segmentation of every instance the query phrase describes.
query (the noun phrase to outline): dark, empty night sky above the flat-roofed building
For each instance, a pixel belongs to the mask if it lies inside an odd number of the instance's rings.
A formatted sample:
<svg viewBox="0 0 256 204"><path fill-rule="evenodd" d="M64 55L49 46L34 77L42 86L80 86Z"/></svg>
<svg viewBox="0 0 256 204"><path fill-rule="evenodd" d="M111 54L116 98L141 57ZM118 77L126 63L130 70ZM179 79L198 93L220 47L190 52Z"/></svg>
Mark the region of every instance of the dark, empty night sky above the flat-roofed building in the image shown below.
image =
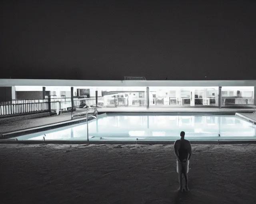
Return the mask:
<svg viewBox="0 0 256 204"><path fill-rule="evenodd" d="M0 3L0 78L256 79L255 0L120 2Z"/></svg>

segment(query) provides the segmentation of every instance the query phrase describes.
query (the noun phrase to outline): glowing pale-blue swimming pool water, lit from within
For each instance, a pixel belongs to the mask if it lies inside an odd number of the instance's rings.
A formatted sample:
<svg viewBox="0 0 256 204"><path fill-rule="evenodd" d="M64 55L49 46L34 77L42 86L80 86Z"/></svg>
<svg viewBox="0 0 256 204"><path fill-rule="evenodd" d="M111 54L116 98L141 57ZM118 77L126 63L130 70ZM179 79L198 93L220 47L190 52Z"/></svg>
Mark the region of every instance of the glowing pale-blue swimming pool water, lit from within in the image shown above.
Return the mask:
<svg viewBox="0 0 256 204"><path fill-rule="evenodd" d="M102 114L88 122L90 141L255 140L256 126L236 116L198 114ZM220 136L219 136L220 135ZM87 140L87 124L16 137L22 140Z"/></svg>

